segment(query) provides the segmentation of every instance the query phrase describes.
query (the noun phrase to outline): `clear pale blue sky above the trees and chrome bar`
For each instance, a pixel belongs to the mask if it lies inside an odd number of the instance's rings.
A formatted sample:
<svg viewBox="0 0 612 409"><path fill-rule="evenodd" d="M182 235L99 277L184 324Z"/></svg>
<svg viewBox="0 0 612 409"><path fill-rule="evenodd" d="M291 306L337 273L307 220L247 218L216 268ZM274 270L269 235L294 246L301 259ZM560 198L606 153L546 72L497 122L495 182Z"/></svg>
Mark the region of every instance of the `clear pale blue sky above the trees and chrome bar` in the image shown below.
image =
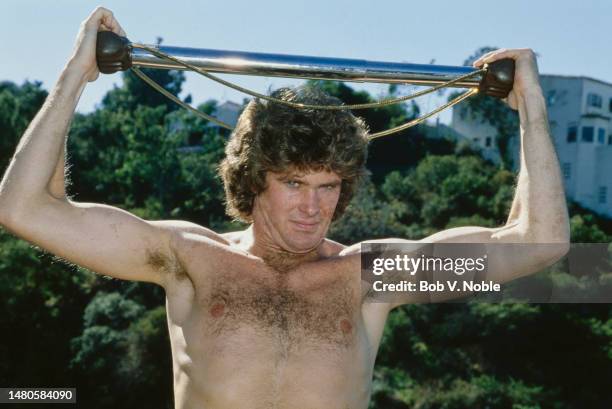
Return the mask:
<svg viewBox="0 0 612 409"><path fill-rule="evenodd" d="M0 80L54 83L70 55L79 23L96 5L110 8L131 40L164 44L461 65L481 46L530 47L540 72L612 82L610 1L32 1L0 2ZM227 78L227 77L226 77ZM286 79L231 77L265 91ZM120 75L90 84L78 110L87 112L120 84ZM357 88L362 86L357 85ZM188 75L195 103L243 96ZM369 86L374 94L386 86ZM418 100L422 110L436 97ZM448 121L449 114L443 115Z"/></svg>

